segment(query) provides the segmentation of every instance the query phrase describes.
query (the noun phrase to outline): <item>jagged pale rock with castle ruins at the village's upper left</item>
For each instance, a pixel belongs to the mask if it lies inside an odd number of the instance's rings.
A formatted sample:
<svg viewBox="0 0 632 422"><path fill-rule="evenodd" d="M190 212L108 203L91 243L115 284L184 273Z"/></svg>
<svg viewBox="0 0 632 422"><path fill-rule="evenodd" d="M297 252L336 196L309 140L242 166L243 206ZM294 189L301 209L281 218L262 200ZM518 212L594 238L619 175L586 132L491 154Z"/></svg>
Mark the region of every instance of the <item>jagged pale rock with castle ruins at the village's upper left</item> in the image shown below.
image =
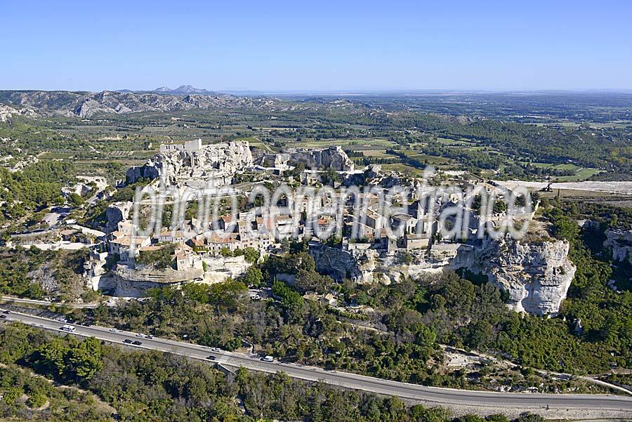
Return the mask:
<svg viewBox="0 0 632 422"><path fill-rule="evenodd" d="M252 154L247 141L211 144L199 150L173 150L159 152L141 167L132 167L126 173L126 183L139 178L153 180L165 177L175 185L216 185L230 183L239 170L252 166Z"/></svg>

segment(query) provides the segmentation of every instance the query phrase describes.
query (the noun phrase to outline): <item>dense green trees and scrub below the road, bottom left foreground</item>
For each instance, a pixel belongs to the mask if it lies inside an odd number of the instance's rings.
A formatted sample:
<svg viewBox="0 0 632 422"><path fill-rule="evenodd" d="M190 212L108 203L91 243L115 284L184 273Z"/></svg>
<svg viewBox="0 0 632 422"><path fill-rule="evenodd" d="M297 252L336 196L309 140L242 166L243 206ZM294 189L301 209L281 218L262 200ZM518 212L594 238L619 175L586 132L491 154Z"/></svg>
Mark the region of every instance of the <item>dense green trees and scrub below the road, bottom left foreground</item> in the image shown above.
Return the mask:
<svg viewBox="0 0 632 422"><path fill-rule="evenodd" d="M421 405L409 407L397 397L377 397L341 390L322 383L306 383L278 374L237 371L235 381L209 364L155 351L127 352L101 345L93 338L77 341L57 337L20 324L0 327L0 417L33 414L40 420L104 421L361 421L449 422L449 411ZM86 393L59 393L43 378L25 376L20 367L63 385L72 385L103 400L94 405ZM26 394L26 403L18 399ZM72 397L72 398L71 398ZM242 409L238 405L243 403ZM42 414L37 405L51 403ZM105 413L109 405L112 416ZM88 407L91 405L91 407ZM104 406L105 405L105 406ZM107 407L106 407L107 408ZM78 418L78 419L73 419ZM500 419L499 419L500 418ZM36 419L37 420L37 419ZM496 415L488 419L507 421ZM485 419L469 415L454 422ZM525 414L516 422L542 422Z"/></svg>

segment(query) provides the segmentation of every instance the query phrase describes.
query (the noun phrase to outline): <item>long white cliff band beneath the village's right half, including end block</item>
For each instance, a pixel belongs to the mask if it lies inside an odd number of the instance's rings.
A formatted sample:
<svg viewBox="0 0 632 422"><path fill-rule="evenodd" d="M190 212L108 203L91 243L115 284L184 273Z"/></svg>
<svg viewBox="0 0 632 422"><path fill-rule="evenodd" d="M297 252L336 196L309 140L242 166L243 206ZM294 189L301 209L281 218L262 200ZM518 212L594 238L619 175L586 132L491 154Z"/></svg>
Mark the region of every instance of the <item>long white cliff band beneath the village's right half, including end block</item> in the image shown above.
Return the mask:
<svg viewBox="0 0 632 422"><path fill-rule="evenodd" d="M577 268L568 258L565 241L522 244L514 240L485 240L481 246L437 244L426 255L411 251L412 262L403 264L397 256L375 249L345 251L327 246L310 249L316 269L334 279L357 283L389 284L401 277L441 274L445 270L466 268L486 275L489 282L506 291L508 306L517 312L547 315L560 311L560 305Z"/></svg>

